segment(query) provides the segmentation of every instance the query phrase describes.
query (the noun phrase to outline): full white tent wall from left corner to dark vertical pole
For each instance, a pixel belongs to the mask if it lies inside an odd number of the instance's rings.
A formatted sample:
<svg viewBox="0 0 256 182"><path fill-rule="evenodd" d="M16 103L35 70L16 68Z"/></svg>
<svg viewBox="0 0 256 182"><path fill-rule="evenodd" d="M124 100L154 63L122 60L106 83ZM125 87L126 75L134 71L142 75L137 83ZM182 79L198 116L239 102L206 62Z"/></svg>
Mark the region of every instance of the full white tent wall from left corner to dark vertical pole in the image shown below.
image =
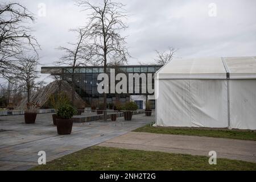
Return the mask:
<svg viewBox="0 0 256 182"><path fill-rule="evenodd" d="M158 126L228 127L226 80L159 80Z"/></svg>

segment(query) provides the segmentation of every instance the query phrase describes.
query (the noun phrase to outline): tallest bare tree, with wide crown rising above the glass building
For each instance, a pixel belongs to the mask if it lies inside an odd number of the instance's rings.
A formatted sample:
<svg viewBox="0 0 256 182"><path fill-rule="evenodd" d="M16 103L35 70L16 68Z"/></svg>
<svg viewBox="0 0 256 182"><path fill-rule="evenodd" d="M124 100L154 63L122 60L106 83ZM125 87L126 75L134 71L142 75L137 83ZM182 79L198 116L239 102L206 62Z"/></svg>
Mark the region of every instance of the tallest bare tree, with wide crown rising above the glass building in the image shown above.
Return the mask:
<svg viewBox="0 0 256 182"><path fill-rule="evenodd" d="M77 5L84 11L89 11L88 38L90 39L90 54L94 56L93 65L103 65L104 72L113 57L119 57L122 63L127 63L129 53L126 48L126 37L121 31L127 28L124 19L127 18L125 5L111 0L102 0L100 5L94 5L87 0L77 0ZM104 93L104 110L106 110L106 93Z"/></svg>

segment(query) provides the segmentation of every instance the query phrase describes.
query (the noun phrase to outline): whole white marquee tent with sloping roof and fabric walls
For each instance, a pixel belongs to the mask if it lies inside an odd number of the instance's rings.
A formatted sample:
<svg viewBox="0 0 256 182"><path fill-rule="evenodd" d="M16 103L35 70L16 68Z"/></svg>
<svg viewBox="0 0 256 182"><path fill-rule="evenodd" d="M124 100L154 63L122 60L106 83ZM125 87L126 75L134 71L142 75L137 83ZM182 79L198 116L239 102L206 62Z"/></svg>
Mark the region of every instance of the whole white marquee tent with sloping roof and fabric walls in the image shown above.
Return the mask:
<svg viewBox="0 0 256 182"><path fill-rule="evenodd" d="M174 59L155 75L156 124L256 129L256 57Z"/></svg>

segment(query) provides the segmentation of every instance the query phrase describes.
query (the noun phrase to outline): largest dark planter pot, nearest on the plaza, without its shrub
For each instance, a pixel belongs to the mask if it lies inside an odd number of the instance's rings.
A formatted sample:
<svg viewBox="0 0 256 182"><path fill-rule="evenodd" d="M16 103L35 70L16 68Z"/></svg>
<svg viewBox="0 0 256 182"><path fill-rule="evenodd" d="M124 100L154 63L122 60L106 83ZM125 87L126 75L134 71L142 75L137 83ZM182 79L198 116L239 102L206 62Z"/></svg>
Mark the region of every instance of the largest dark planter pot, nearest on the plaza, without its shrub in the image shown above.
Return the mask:
<svg viewBox="0 0 256 182"><path fill-rule="evenodd" d="M62 119L56 118L57 132L59 135L69 135L71 134L73 127L73 119Z"/></svg>

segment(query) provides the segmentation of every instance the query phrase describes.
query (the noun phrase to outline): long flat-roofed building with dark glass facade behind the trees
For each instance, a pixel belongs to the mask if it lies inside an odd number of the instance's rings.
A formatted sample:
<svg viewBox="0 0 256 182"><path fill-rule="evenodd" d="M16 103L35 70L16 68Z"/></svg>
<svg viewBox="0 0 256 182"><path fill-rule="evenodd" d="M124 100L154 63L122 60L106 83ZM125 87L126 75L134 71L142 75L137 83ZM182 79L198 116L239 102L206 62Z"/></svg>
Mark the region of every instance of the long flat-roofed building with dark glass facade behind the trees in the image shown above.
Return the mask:
<svg viewBox="0 0 256 182"><path fill-rule="evenodd" d="M162 65L127 65L115 68L115 75L118 73L125 73L128 78L129 73L148 73L152 74L152 88L154 88L154 73L158 71ZM107 72L110 73L108 67ZM50 73L52 75L60 75L63 80L71 83L72 81L72 68L70 67L42 67L42 73ZM81 98L86 101L87 104L97 105L103 102L103 94L98 93L98 75L104 73L104 67L79 67L75 69L75 83L76 92ZM128 79L127 79L128 82ZM129 85L127 83L127 85ZM141 86L140 80L140 86ZM127 89L128 90L128 89ZM130 100L130 95L142 95L142 94L107 94L107 102L114 103L116 100L120 102L127 102ZM147 94L154 95L154 94ZM155 101L151 100L151 107L155 107Z"/></svg>

